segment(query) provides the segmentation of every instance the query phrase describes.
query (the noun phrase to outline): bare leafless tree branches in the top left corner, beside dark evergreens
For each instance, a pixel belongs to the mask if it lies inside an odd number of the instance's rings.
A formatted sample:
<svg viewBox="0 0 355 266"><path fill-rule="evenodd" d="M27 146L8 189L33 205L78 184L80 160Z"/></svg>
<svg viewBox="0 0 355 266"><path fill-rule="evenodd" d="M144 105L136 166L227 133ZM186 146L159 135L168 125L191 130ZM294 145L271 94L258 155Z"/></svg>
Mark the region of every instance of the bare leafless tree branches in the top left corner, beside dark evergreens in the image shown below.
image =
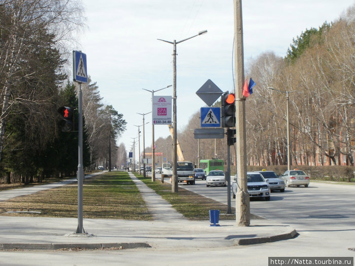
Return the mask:
<svg viewBox="0 0 355 266"><path fill-rule="evenodd" d="M3 0L0 2L0 159L5 127L13 105L18 102L39 103L30 95L21 97L21 88L38 71L29 67L33 51L41 38L50 36L53 47L60 46L81 25L80 8L69 0ZM49 100L49 99L48 99Z"/></svg>

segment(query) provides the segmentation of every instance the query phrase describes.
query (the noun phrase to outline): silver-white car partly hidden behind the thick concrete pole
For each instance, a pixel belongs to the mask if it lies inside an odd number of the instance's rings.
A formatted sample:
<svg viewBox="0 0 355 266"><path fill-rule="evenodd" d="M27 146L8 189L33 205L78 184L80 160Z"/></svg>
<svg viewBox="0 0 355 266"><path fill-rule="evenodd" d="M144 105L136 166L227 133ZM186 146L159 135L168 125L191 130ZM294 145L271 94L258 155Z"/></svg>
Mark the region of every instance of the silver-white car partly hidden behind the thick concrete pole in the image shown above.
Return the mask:
<svg viewBox="0 0 355 266"><path fill-rule="evenodd" d="M246 178L250 198L264 198L266 201L270 200L269 184L260 173L247 172ZM237 175L235 175L234 180L232 180L233 199L235 199L235 195L237 194L237 187Z"/></svg>

